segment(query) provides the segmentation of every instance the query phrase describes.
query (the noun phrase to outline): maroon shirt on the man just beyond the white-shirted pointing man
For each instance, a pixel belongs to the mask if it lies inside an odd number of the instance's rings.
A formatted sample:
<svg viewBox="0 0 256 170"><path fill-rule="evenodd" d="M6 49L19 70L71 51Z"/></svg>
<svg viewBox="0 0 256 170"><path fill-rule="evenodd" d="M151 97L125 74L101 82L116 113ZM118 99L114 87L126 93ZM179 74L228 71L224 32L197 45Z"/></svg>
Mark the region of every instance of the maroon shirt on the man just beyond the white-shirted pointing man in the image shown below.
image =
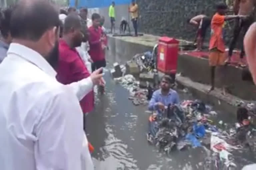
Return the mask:
<svg viewBox="0 0 256 170"><path fill-rule="evenodd" d="M75 48L70 48L64 40L59 41L59 61L57 80L62 84L77 82L90 76L83 60ZM83 113L91 112L94 108L94 94L89 92L81 101Z"/></svg>

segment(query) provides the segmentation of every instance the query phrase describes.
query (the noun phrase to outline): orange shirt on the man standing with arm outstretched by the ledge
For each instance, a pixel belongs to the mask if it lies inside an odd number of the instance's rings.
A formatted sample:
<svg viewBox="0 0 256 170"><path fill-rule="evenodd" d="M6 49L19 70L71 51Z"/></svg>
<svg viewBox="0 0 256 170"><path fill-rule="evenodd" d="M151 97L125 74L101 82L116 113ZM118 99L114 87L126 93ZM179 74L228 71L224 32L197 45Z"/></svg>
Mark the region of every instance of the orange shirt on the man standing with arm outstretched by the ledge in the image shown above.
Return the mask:
<svg viewBox="0 0 256 170"><path fill-rule="evenodd" d="M211 22L211 39L209 49L217 48L218 50L225 52L225 43L222 37L222 29L225 22L225 16L216 13L212 17Z"/></svg>

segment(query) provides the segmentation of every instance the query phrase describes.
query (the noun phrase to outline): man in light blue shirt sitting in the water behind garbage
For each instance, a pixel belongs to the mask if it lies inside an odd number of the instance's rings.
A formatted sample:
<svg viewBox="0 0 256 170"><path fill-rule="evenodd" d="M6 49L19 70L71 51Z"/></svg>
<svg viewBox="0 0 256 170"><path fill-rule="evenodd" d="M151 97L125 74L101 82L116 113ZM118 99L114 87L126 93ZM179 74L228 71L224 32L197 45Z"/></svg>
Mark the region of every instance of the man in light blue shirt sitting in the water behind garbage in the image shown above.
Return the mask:
<svg viewBox="0 0 256 170"><path fill-rule="evenodd" d="M173 82L173 79L169 75L162 77L160 83L161 88L153 93L148 106L149 110L157 111L157 114L161 114L169 104L179 103L178 93L171 89Z"/></svg>

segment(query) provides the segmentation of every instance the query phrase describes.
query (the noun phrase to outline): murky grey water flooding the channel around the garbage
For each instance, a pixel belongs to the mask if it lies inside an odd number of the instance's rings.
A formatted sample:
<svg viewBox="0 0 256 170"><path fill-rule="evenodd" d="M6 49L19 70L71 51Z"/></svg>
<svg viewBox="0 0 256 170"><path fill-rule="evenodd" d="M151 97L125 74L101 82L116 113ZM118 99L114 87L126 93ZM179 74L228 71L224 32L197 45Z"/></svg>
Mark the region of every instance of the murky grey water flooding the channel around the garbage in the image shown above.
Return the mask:
<svg viewBox="0 0 256 170"><path fill-rule="evenodd" d="M113 63L120 56L108 55ZM113 58L115 58L113 60ZM128 100L129 93L116 84L110 74L105 74L106 93L96 94L95 110L87 119L88 139L94 145L93 161L96 170L205 170L205 158L209 150L205 147L173 152L166 156L159 153L146 140L148 127L147 106L134 106ZM178 91L181 100L193 99L189 93ZM222 113L218 108L215 122L235 122L234 114ZM239 167L254 160L254 154L240 153ZM241 168L240 168L241 169Z"/></svg>

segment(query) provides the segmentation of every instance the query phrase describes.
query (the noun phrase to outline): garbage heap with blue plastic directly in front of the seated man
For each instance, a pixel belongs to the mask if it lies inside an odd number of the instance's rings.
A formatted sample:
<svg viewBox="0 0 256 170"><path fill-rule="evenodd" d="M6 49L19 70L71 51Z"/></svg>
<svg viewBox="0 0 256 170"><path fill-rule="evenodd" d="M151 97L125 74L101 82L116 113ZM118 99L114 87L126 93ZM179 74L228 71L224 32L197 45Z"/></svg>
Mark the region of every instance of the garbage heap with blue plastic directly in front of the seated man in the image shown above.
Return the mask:
<svg viewBox="0 0 256 170"><path fill-rule="evenodd" d="M151 116L149 141L159 150L170 154L172 150L201 146L206 129L216 131L208 120L210 107L199 100L169 105L163 114Z"/></svg>

